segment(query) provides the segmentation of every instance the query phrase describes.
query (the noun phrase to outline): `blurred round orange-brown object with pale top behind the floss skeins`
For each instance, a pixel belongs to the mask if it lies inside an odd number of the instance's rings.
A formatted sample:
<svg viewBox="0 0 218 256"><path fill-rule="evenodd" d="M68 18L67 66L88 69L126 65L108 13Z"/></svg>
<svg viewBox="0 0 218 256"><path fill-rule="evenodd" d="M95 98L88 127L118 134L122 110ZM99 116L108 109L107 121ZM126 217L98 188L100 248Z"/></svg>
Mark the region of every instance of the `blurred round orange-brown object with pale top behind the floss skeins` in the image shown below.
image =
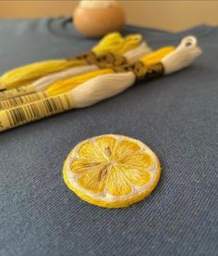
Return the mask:
<svg viewBox="0 0 218 256"><path fill-rule="evenodd" d="M123 6L116 1L83 0L74 12L76 29L88 37L120 31L125 24Z"/></svg>

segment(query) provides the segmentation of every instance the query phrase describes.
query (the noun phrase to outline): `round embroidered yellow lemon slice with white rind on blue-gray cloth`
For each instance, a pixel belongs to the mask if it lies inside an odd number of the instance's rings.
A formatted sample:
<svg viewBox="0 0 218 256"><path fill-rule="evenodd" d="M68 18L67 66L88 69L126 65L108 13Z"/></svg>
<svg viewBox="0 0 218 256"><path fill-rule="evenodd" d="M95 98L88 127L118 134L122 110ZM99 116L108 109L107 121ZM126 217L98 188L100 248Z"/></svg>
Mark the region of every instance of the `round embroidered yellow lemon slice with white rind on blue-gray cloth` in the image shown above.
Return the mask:
<svg viewBox="0 0 218 256"><path fill-rule="evenodd" d="M64 180L79 198L106 208L126 207L157 185L157 156L139 140L107 134L82 141L69 153Z"/></svg>

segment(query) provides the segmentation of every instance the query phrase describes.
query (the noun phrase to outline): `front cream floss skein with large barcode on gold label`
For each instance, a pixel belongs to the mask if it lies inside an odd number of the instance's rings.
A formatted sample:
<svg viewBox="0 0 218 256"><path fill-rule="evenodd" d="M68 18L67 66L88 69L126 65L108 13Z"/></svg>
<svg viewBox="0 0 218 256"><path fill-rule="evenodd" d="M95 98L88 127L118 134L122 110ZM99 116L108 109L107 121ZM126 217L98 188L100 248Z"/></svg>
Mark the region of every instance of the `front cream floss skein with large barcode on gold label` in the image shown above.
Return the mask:
<svg viewBox="0 0 218 256"><path fill-rule="evenodd" d="M132 66L121 67L122 70L129 70L127 72L105 74L81 84L68 93L0 111L0 131L6 131L69 109L89 107L105 98L123 92L137 79L148 80L184 69L200 54L201 50L197 45L197 39L188 36L182 40L175 51L149 69L146 69L139 61ZM172 60L175 65L170 63ZM119 68L117 67L117 69Z"/></svg>

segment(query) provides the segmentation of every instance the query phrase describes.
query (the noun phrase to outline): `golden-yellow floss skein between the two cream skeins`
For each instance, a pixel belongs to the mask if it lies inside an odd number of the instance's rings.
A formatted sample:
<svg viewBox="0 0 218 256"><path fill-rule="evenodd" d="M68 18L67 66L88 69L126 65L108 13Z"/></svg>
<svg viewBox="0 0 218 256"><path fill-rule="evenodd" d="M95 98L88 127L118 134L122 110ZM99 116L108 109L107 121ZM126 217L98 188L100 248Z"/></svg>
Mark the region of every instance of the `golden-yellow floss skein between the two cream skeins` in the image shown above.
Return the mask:
<svg viewBox="0 0 218 256"><path fill-rule="evenodd" d="M164 56L169 54L170 52L174 51L175 47L173 46L166 46L163 47L155 52L152 52L151 54L143 57L140 59L140 61L148 68L151 65L158 63L162 60ZM76 68L77 69L77 68ZM48 96L55 96L58 94L66 93L69 90L72 90L73 88L79 86L82 83L85 83L89 80L91 80L94 77L101 76L103 74L109 74L114 73L115 70L113 69L104 69L104 70L93 70L90 72L87 72L85 74L68 78L66 80L61 80L56 83L52 83L45 92L41 93L35 93L30 94L27 96L18 96L13 97L6 100L0 101L0 110L1 109L10 109L25 103L29 103L35 100L39 100Z"/></svg>

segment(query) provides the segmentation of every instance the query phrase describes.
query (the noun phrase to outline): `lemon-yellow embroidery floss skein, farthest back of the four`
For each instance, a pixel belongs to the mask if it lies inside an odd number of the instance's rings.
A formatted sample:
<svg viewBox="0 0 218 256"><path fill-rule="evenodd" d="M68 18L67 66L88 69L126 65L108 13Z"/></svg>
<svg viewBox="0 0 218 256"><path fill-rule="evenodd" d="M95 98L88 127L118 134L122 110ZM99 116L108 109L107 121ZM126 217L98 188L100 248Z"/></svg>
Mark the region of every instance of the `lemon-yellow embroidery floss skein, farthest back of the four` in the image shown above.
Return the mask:
<svg viewBox="0 0 218 256"><path fill-rule="evenodd" d="M104 36L100 43L91 49L94 55L101 56L107 53L122 55L141 43L141 35L129 34L126 38L122 38L119 32L112 32ZM10 70L0 77L0 90L12 89L24 84L30 84L34 80L61 70L68 68L87 65L85 59L53 59L45 60L30 65Z"/></svg>

